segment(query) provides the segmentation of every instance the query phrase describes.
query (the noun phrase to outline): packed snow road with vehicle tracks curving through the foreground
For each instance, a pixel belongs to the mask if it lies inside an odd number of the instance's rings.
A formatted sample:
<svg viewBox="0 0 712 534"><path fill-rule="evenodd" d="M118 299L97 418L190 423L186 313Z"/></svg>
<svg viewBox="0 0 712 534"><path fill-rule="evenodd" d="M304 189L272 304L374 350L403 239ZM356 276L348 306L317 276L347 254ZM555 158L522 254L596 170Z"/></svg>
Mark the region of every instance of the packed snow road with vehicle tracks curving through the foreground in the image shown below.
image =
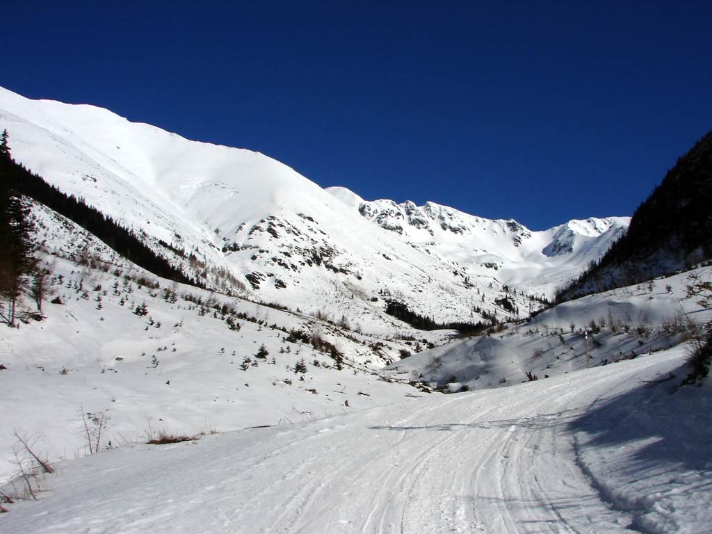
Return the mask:
<svg viewBox="0 0 712 534"><path fill-rule="evenodd" d="M648 471L650 482L617 485L606 462L618 465L637 445L588 449L591 435L577 426L587 412L680 362L680 352L669 351L518 387L112 449L58 464L46 481L50 491L40 502L11 506L0 531L669 532L681 526L679 510L689 522L682 531L703 532L711 518L695 499L709 499L711 471L698 472L702 490L694 498L684 483L675 495L646 496L656 476L671 474L671 463ZM666 518L656 511L665 498ZM690 515L686 505L701 509Z"/></svg>

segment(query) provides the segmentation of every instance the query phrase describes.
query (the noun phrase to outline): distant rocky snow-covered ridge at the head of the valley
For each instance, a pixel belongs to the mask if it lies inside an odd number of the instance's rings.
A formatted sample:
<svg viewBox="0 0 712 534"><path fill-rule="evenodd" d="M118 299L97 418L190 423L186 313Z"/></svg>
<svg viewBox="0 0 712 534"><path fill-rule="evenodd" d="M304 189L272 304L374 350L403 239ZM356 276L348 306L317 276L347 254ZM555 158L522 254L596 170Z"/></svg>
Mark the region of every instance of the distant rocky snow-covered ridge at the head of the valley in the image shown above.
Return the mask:
<svg viewBox="0 0 712 534"><path fill-rule="evenodd" d="M551 295L602 256L629 223L629 217L592 218L531 231L513 219L483 219L434 202L365 201L343 187L327 191L412 246L537 295Z"/></svg>

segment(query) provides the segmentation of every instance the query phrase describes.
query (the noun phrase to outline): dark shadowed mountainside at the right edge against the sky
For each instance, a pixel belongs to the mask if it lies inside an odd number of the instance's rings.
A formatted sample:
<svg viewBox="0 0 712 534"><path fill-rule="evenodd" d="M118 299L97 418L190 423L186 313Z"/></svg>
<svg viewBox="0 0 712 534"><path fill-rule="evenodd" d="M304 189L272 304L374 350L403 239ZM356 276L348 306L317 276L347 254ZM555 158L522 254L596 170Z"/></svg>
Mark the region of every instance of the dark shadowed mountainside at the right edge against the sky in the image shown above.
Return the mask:
<svg viewBox="0 0 712 534"><path fill-rule="evenodd" d="M712 132L678 159L626 234L558 300L647 281L712 258Z"/></svg>

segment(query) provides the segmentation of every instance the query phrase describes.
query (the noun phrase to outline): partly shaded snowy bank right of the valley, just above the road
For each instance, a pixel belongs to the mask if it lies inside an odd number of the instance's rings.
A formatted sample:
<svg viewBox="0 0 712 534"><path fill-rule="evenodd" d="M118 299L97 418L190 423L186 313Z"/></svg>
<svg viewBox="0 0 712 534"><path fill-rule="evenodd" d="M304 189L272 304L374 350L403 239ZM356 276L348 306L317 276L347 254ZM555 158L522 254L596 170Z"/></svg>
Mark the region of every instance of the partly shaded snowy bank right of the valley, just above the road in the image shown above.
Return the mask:
<svg viewBox="0 0 712 534"><path fill-rule="evenodd" d="M712 268L704 267L589 295L545 310L528 323L394 362L384 372L460 391L580 370L587 365L587 351L590 367L647 357L687 340L690 322L712 320L712 310L686 293L691 277L708 281L711 276Z"/></svg>

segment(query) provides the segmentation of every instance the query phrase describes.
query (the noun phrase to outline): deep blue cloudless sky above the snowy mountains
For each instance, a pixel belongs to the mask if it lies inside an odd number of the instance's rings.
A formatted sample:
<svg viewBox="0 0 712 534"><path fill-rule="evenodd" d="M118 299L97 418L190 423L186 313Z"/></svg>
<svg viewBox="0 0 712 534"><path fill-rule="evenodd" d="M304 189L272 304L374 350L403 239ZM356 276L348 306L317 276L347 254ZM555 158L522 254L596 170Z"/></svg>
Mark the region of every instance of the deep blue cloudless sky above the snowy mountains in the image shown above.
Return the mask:
<svg viewBox="0 0 712 534"><path fill-rule="evenodd" d="M630 215L712 129L712 3L6 0L0 85L366 199Z"/></svg>

